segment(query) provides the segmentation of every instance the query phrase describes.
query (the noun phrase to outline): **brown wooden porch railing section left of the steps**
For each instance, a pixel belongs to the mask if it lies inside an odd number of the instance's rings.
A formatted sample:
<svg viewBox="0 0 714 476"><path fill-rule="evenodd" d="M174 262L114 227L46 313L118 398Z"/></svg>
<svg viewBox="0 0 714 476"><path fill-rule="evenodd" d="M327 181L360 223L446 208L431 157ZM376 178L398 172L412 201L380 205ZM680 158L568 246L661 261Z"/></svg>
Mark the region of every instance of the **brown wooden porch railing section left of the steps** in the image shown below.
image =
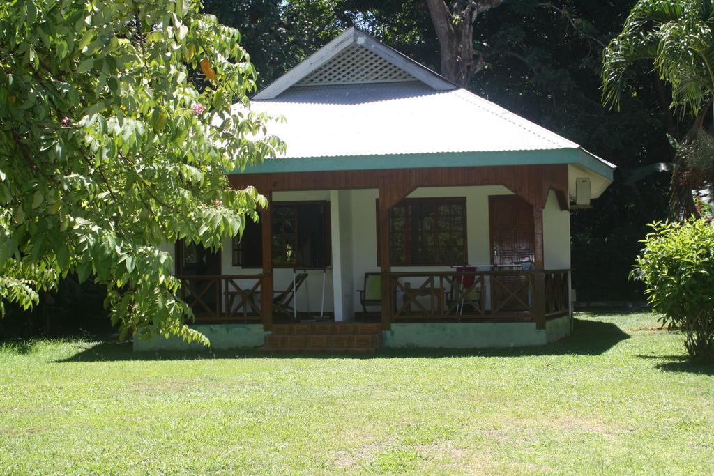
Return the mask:
<svg viewBox="0 0 714 476"><path fill-rule="evenodd" d="M260 322L263 275L180 275L181 299L196 322Z"/></svg>

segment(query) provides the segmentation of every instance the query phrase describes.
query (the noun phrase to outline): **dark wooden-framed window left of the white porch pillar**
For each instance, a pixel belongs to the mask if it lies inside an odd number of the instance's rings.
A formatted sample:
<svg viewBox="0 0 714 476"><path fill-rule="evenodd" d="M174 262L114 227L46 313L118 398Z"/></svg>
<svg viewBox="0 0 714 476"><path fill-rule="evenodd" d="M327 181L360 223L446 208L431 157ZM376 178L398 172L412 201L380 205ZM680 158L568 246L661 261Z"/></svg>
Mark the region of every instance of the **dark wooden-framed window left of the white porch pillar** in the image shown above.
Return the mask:
<svg viewBox="0 0 714 476"><path fill-rule="evenodd" d="M331 264L330 203L273 202L273 267L324 268ZM233 265L261 268L262 230L248 223L243 239L233 239Z"/></svg>

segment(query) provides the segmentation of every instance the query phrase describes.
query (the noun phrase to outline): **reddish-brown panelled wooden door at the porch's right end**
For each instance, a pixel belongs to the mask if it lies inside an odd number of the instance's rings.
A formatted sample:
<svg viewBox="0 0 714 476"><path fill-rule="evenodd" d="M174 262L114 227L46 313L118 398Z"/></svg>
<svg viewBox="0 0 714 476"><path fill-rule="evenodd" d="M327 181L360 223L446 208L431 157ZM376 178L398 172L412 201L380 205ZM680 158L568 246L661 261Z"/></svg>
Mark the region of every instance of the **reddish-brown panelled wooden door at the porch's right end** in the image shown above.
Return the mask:
<svg viewBox="0 0 714 476"><path fill-rule="evenodd" d="M535 226L533 206L515 195L488 197L491 231L491 264L495 270L523 270L523 260L533 260ZM491 279L491 311L525 311L532 290L525 276L494 275Z"/></svg>

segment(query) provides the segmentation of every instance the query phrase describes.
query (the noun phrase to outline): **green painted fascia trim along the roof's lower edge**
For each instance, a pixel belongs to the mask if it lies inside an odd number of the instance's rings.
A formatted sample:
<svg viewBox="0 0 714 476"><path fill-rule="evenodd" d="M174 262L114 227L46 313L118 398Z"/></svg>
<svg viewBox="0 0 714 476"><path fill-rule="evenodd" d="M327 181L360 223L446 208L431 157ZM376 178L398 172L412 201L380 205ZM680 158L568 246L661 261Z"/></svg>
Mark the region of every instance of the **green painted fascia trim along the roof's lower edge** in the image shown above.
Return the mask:
<svg viewBox="0 0 714 476"><path fill-rule="evenodd" d="M488 166L535 166L579 163L581 166L613 179L613 167L580 148L541 151L441 152L391 154L381 156L273 158L258 166L248 166L242 173L291 173L317 171L365 171L388 168L443 168ZM236 171L238 173L238 171Z"/></svg>

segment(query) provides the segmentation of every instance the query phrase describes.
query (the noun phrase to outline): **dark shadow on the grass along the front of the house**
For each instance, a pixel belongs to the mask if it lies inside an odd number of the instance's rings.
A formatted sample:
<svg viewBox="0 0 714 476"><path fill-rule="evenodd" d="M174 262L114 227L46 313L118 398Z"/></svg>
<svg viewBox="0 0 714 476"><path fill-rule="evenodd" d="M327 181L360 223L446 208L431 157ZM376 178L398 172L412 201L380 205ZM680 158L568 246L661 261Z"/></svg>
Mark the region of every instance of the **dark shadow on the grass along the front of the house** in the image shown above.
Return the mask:
<svg viewBox="0 0 714 476"><path fill-rule="evenodd" d="M200 360L211 358L443 358L443 357L523 357L533 355L599 355L617 343L628 339L617 325L595 320L574 321L573 335L557 343L537 347L516 347L501 349L380 349L373 355L345 354L287 354L264 353L257 349L234 350L153 350L134 352L130 343L99 343L80 350L70 358L59 362L96 362L111 360Z"/></svg>

